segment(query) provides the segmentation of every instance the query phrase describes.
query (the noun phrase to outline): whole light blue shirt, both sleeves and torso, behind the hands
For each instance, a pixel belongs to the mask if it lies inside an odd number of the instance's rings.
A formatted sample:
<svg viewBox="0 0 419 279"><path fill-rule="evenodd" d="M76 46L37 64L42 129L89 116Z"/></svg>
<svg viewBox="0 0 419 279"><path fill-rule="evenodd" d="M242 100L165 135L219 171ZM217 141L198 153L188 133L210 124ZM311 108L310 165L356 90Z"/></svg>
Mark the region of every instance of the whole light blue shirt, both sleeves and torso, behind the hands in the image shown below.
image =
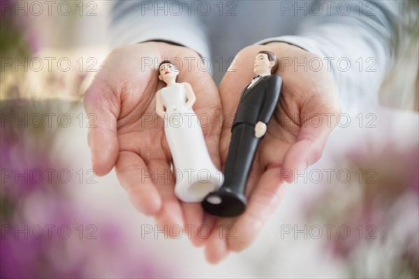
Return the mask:
<svg viewBox="0 0 419 279"><path fill-rule="evenodd" d="M219 82L224 62L243 47L290 43L321 57L320 64L296 61L295 70L327 67L347 111L378 105L378 89L392 65L401 5L397 0L120 0L112 8L112 45L166 40L190 47L212 61L210 71ZM208 15L202 13L205 6ZM285 63L287 57L280 59Z"/></svg>

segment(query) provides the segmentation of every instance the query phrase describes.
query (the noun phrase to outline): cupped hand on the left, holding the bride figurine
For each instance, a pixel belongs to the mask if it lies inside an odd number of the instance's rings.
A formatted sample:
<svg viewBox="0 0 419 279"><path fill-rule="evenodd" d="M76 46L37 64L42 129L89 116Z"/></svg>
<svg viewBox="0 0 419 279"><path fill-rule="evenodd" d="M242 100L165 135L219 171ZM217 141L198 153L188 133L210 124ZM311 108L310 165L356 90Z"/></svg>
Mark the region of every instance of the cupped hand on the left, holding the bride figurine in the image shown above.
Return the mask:
<svg viewBox="0 0 419 279"><path fill-rule="evenodd" d="M191 84L196 94L196 114L219 118L218 89L210 74L199 68L198 54L160 42L113 50L87 89L84 107L87 113L96 115L94 127L88 132L96 173L105 175L115 166L119 182L136 209L154 216L160 229L170 233L174 225L199 227L204 214L200 204L184 204L175 197L172 158L155 104L156 91L166 86L157 73L159 62L165 59L179 68L177 82ZM203 133L212 160L219 167L219 121L203 127ZM196 233L192 231L191 235ZM193 241L202 242L196 238Z"/></svg>

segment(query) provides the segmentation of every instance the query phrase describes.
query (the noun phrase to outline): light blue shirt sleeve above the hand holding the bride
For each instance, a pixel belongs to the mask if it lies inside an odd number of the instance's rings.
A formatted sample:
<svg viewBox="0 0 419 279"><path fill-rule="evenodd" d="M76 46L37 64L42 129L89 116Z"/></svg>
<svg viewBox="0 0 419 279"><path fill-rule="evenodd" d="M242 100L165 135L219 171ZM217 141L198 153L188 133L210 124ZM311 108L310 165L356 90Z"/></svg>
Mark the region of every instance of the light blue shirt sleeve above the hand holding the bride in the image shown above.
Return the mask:
<svg viewBox="0 0 419 279"><path fill-rule="evenodd" d="M196 1L113 1L112 47L149 40L166 40L210 57L206 28Z"/></svg>

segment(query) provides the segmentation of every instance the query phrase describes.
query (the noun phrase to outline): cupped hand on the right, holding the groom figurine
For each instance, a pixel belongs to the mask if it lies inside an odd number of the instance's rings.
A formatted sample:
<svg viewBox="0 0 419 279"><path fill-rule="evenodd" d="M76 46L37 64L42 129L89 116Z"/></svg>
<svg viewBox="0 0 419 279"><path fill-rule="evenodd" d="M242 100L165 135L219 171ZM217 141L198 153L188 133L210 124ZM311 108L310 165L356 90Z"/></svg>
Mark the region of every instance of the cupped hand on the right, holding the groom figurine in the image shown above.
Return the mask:
<svg viewBox="0 0 419 279"><path fill-rule="evenodd" d="M205 247L210 262L219 262L228 252L243 250L256 239L293 176L321 157L337 125L340 106L332 75L327 66L314 68L310 66L315 64L309 63L322 59L286 43L246 47L235 56L219 86L224 114L220 139L222 165L226 163L234 114L242 90L255 75L253 61L260 50L277 54L277 75L283 78L284 86L249 176L247 209L237 218L219 218L213 224Z"/></svg>

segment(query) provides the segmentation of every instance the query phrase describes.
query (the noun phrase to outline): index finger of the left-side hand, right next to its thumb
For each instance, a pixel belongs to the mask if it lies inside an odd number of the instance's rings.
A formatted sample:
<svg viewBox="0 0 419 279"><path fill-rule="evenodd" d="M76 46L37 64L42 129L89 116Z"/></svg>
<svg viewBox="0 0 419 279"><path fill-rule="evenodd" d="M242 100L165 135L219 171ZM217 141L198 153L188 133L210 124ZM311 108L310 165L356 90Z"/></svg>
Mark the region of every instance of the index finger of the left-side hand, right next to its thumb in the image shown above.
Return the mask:
<svg viewBox="0 0 419 279"><path fill-rule="evenodd" d="M121 151L116 172L122 187L128 192L138 211L147 216L155 215L161 209L161 197L151 179L152 174L137 154Z"/></svg>

